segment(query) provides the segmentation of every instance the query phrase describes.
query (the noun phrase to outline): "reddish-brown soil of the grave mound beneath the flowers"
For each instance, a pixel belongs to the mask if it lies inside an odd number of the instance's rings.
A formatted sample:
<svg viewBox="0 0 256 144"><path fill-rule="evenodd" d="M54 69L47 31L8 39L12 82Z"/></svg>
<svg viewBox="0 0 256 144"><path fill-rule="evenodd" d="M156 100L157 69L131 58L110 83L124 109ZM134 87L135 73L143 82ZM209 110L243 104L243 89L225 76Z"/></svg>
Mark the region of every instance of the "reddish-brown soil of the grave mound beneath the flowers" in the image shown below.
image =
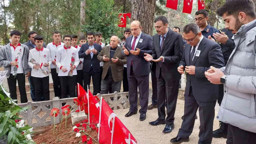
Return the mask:
<svg viewBox="0 0 256 144"><path fill-rule="evenodd" d="M72 131L73 125L71 122L71 118L68 118L67 128L65 128L65 118L62 120L61 129L59 131L60 124L55 125L56 133L53 136L53 124L38 127L34 129L33 140L36 144L78 144L82 143L82 136L87 134L87 138L89 140L90 136L92 137L92 144L98 144L98 142L93 139L98 139L98 133L95 130L89 128L89 124L87 124L87 129L85 132L80 132L81 136L76 137L76 132ZM78 127L81 130L83 127ZM90 135L90 136L88 136ZM85 142L86 144L87 142Z"/></svg>

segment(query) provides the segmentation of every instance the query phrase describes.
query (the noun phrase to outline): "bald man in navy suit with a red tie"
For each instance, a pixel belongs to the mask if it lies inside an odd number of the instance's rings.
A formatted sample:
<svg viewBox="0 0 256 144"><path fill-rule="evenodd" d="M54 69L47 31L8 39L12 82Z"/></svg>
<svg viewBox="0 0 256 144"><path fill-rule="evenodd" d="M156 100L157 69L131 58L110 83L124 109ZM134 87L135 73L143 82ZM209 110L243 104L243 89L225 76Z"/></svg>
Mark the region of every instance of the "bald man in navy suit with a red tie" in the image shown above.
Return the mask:
<svg viewBox="0 0 256 144"><path fill-rule="evenodd" d="M135 20L131 23L132 36L127 37L124 45L124 54L127 56L127 77L129 84L130 110L125 117L137 114L138 94L140 91L140 121L146 119L148 107L148 89L150 63L144 59L144 53L152 54L153 40L141 32L141 24Z"/></svg>

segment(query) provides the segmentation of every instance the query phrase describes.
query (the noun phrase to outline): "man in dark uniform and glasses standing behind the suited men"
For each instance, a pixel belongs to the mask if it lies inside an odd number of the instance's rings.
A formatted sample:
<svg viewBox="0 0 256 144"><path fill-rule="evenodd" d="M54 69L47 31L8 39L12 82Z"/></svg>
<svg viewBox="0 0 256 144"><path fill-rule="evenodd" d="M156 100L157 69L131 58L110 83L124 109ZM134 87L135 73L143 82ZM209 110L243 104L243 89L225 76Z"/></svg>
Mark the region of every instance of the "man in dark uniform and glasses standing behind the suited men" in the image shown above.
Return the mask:
<svg viewBox="0 0 256 144"><path fill-rule="evenodd" d="M207 20L209 19L208 14L208 11L205 9L199 10L196 12L194 20L204 37L215 40L212 35L215 33L220 33L220 31L207 23ZM219 43L218 41L216 42Z"/></svg>

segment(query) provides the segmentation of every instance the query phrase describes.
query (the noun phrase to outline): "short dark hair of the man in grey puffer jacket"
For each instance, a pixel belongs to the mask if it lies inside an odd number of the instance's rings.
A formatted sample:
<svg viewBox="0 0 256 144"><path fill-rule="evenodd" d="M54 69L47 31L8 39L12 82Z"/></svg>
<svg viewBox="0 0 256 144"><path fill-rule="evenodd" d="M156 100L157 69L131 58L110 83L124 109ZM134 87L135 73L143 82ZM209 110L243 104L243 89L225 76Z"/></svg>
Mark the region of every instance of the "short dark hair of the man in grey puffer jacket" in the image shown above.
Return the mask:
<svg viewBox="0 0 256 144"><path fill-rule="evenodd" d="M252 18L256 17L255 5L252 0L227 0L217 10L219 16L223 16L224 13L227 15L237 16L239 12L244 12Z"/></svg>

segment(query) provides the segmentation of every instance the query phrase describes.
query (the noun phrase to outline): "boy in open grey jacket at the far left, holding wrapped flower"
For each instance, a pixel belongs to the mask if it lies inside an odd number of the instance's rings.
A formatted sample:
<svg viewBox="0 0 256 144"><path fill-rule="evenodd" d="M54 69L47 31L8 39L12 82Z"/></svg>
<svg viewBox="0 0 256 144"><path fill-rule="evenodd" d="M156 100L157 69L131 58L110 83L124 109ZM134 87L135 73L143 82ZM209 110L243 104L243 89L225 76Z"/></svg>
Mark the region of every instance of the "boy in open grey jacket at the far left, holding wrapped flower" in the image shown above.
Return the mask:
<svg viewBox="0 0 256 144"><path fill-rule="evenodd" d="M10 34L11 43L0 49L0 65L7 70L6 77L9 92L13 100L17 100L16 83L18 81L21 103L28 102L25 88L25 75L29 76L28 46L20 44L20 32L13 30Z"/></svg>

